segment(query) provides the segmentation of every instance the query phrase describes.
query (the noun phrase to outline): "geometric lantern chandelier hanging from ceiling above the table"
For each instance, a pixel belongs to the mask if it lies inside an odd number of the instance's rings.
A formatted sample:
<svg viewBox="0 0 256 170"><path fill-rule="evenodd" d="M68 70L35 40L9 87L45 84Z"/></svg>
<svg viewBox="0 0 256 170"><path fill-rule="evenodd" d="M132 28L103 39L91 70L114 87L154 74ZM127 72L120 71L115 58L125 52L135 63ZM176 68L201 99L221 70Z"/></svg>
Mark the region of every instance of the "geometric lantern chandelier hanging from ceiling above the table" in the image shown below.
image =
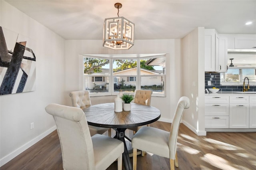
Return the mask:
<svg viewBox="0 0 256 170"><path fill-rule="evenodd" d="M106 18L103 26L103 47L111 49L129 49L134 45L134 23L119 17L122 4L116 3L116 18Z"/></svg>

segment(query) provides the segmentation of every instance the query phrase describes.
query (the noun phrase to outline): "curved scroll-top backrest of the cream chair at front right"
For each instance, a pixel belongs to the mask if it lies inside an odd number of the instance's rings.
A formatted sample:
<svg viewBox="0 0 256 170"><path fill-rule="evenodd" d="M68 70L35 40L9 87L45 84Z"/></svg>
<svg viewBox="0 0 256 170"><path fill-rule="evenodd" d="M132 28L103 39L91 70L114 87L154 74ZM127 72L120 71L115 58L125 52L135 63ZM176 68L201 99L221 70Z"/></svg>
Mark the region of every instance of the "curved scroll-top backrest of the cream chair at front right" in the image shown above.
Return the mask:
<svg viewBox="0 0 256 170"><path fill-rule="evenodd" d="M170 150L170 159L175 159L176 147L177 147L177 137L178 130L180 127L180 121L185 109L190 107L190 102L188 97L183 96L179 99L174 117L172 119L172 125L169 136L169 150Z"/></svg>

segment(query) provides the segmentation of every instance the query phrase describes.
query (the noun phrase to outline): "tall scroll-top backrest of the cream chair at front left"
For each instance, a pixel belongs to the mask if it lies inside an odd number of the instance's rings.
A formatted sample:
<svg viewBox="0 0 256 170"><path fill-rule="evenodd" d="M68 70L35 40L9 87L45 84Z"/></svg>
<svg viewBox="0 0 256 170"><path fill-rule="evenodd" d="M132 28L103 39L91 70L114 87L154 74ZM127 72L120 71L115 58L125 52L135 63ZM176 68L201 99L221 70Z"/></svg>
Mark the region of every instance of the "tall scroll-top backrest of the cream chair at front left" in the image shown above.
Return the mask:
<svg viewBox="0 0 256 170"><path fill-rule="evenodd" d="M93 170L94 151L84 111L80 108L49 104L46 112L54 117L64 169Z"/></svg>

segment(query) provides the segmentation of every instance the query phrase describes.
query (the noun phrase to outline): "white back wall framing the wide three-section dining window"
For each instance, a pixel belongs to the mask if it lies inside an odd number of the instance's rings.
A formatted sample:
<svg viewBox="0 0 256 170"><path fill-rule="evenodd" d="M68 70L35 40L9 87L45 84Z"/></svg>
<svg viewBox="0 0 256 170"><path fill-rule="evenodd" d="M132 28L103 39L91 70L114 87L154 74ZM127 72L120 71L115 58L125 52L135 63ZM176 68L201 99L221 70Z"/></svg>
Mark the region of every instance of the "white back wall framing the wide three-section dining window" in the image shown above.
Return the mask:
<svg viewBox="0 0 256 170"><path fill-rule="evenodd" d="M151 105L161 111L161 121L171 122L176 103L182 95L180 40L135 40L129 50L102 47L102 40L66 40L66 104L71 106L70 91L82 90L79 85L81 54L168 53L166 57L166 97L152 97ZM81 75L81 74L80 74ZM81 88L81 89L80 89ZM91 97L92 104L113 102L114 97Z"/></svg>

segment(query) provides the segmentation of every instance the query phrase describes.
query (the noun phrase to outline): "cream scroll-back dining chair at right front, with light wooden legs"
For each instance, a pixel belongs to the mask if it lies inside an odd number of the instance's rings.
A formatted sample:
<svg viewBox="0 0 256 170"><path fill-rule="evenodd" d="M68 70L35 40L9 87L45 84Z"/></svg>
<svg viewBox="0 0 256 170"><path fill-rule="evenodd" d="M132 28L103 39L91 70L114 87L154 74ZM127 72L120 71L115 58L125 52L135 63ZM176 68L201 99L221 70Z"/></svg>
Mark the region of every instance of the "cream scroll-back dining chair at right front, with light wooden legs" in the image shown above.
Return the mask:
<svg viewBox="0 0 256 170"><path fill-rule="evenodd" d="M134 134L132 137L133 170L136 170L137 166L137 149L169 158L171 170L174 170L174 164L178 167L176 153L178 130L184 110L189 107L188 97L181 97L174 113L170 132L154 127L142 127Z"/></svg>

